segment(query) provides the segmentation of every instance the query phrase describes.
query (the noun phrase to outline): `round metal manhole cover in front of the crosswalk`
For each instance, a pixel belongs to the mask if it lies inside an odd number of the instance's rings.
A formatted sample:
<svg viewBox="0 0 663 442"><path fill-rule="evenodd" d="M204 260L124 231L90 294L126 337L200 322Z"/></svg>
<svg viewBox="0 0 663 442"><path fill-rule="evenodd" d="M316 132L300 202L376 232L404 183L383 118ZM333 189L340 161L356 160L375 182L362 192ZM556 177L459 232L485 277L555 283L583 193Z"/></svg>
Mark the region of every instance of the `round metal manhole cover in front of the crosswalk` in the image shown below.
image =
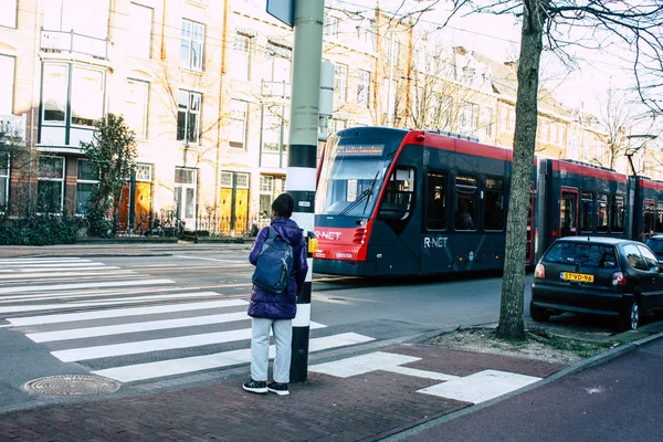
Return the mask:
<svg viewBox="0 0 663 442"><path fill-rule="evenodd" d="M119 382L101 376L60 375L48 376L25 382L23 388L31 393L48 396L91 396L114 393Z"/></svg>

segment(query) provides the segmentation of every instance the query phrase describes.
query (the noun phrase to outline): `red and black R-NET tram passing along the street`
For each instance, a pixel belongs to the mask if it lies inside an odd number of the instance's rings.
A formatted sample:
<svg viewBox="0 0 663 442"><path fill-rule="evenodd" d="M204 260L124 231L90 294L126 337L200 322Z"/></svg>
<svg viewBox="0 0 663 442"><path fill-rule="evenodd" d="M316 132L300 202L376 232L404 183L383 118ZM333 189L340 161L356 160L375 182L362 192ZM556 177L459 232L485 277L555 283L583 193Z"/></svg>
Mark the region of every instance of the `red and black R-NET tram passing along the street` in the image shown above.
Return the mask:
<svg viewBox="0 0 663 442"><path fill-rule="evenodd" d="M443 131L338 131L318 170L313 271L404 276L502 269L512 160L511 149ZM535 158L526 265L560 236L644 241L661 230L663 182Z"/></svg>

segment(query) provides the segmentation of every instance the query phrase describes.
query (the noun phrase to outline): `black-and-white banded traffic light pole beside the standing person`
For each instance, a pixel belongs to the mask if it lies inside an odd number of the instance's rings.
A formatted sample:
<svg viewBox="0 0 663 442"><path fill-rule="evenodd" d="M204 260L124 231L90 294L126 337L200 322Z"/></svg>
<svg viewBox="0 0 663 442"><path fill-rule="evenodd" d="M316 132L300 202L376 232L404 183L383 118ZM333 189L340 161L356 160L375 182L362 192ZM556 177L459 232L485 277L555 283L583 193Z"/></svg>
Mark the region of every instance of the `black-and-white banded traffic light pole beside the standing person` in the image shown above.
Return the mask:
<svg viewBox="0 0 663 442"><path fill-rule="evenodd" d="M319 116L320 62L325 0L294 0L294 44L285 189L295 200L293 219L305 235L315 223L315 175ZM291 381L308 376L311 292L313 257L308 253L306 283L297 294L297 316L293 319Z"/></svg>

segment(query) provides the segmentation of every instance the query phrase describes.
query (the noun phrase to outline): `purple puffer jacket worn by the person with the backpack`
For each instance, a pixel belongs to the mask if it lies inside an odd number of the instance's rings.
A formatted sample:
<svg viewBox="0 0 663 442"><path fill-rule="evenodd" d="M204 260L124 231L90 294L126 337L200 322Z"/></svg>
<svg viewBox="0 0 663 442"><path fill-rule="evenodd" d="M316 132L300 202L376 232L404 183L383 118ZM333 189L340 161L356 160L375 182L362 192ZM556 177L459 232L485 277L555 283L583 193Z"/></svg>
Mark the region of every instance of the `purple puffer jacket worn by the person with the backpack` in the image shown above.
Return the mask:
<svg viewBox="0 0 663 442"><path fill-rule="evenodd" d="M249 316L264 317L271 319L292 319L297 313L297 287L304 285L308 263L306 262L306 242L303 230L297 223L288 218L275 218L272 225L293 246L293 269L287 288L280 294L269 293L260 287L253 286L251 291L251 304ZM249 262L253 265L257 262L257 255L262 250L263 242L267 239L269 228L263 228L253 243L249 253Z"/></svg>

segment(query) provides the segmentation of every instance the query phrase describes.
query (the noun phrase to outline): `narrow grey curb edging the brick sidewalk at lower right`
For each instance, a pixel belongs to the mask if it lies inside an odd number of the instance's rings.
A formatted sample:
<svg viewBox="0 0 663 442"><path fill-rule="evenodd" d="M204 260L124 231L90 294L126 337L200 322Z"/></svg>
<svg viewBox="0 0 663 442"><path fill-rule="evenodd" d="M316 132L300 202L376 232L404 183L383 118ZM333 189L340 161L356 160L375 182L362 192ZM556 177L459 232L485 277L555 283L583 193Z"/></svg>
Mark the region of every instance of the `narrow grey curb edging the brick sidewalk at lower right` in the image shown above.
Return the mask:
<svg viewBox="0 0 663 442"><path fill-rule="evenodd" d="M430 421L427 421L427 422L420 423L418 425L411 427L408 430L401 431L401 432L399 432L397 434L392 434L390 436L380 439L380 441L394 442L394 441L400 441L400 440L402 440L404 438L408 438L408 436L411 436L411 435L419 434L422 431L428 430L429 428L440 425L442 423L452 421L452 420L457 419L457 418L462 418L462 417L467 415L467 414L472 414L472 413L474 413L476 411L480 411L480 410L482 410L482 409L484 409L486 407L491 407L491 406L493 406L495 403L498 403L498 402L502 402L502 401L504 401L506 399L513 398L514 396L522 394L522 393L524 393L526 391L534 390L535 388L543 387L543 386L545 386L545 385L547 385L549 382L552 382L552 381L556 381L558 379L561 379L565 376L572 375L572 373L586 370L588 368L601 365L603 362L607 362L607 361L609 361L611 359L614 359L614 358L617 358L619 356L625 355L625 354L628 354L628 352L630 352L632 350L635 350L635 349L638 349L638 348L640 348L642 346L645 346L646 344L650 344L653 340L661 339L661 338L663 338L663 332L659 332L659 333L656 333L654 335L644 337L642 339L638 339L638 340L635 340L633 343L629 343L629 344L625 344L623 346L619 346L619 347L612 348L612 349L610 349L610 350L608 350L606 352L602 352L600 355L593 356L593 357L591 357L589 359L583 359L583 360L581 360L579 362L576 362L572 366L567 367L564 370L557 371L557 372L548 376L547 378L541 379L541 380L539 380L537 382L534 382L534 383L532 383L529 386L525 386L523 388L514 390L514 391L512 391L512 392L509 392L507 394L501 396L498 398L491 399L491 400L487 400L487 401L478 403L478 404L473 404L473 406L466 407L464 409L451 412L449 414L441 415L441 417L435 418L435 419L431 419Z"/></svg>

